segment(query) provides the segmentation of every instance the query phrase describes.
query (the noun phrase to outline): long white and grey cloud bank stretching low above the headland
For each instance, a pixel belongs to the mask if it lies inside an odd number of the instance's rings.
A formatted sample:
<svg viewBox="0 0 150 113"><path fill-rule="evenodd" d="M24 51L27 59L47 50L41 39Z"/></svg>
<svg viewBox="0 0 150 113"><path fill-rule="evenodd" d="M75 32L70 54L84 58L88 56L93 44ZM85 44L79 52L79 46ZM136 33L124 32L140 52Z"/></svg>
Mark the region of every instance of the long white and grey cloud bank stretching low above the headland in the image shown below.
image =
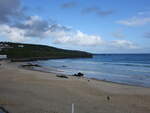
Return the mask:
<svg viewBox="0 0 150 113"><path fill-rule="evenodd" d="M32 16L22 24L10 26L0 24L0 35L11 41L22 42L35 38L47 38L55 44L68 44L78 46L100 46L111 48L136 49L131 41L106 41L101 36L89 35L79 30L73 30L59 24L49 25L47 21L38 16ZM119 36L120 37L120 36Z"/></svg>

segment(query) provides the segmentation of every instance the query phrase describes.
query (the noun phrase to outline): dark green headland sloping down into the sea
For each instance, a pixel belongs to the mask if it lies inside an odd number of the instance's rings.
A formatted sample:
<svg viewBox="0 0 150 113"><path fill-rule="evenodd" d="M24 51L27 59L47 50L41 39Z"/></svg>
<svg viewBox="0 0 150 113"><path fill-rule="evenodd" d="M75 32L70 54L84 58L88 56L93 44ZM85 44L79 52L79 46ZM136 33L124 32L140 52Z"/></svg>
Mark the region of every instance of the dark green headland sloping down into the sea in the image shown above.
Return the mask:
<svg viewBox="0 0 150 113"><path fill-rule="evenodd" d="M6 54L12 60L92 57L92 54L87 52L65 50L45 45L0 42L0 48L0 54Z"/></svg>

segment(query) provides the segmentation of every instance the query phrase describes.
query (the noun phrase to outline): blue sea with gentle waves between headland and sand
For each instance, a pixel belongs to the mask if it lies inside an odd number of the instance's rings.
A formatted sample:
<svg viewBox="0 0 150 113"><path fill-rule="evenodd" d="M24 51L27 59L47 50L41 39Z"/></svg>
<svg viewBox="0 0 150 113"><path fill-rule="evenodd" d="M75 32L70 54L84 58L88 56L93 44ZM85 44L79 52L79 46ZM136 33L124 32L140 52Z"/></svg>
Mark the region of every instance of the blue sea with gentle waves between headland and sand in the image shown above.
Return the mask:
<svg viewBox="0 0 150 113"><path fill-rule="evenodd" d="M62 74L81 72L88 78L150 87L150 54L95 54L93 58L51 59L36 63Z"/></svg>

